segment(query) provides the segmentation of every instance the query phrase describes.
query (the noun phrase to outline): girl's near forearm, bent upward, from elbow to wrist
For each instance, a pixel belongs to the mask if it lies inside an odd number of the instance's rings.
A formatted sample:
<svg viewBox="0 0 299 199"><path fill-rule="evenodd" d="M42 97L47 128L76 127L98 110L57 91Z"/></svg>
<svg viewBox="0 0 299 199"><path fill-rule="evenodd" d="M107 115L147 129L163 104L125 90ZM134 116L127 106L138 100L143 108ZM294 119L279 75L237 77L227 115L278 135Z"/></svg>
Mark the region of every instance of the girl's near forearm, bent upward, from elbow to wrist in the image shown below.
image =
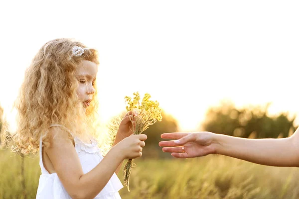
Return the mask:
<svg viewBox="0 0 299 199"><path fill-rule="evenodd" d="M93 170L81 176L77 186L80 190L78 198L95 198L123 160L120 152L112 148Z"/></svg>

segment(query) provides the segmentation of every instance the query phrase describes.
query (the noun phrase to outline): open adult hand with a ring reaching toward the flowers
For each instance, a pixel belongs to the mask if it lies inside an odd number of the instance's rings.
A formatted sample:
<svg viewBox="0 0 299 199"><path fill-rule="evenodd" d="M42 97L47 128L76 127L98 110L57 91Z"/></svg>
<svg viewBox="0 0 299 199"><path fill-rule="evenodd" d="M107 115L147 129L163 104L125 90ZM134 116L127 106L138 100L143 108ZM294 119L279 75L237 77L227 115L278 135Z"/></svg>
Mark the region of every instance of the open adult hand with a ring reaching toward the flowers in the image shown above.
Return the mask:
<svg viewBox="0 0 299 199"><path fill-rule="evenodd" d="M161 138L177 140L162 141L159 146L176 158L200 157L216 152L214 136L211 132L164 133Z"/></svg>

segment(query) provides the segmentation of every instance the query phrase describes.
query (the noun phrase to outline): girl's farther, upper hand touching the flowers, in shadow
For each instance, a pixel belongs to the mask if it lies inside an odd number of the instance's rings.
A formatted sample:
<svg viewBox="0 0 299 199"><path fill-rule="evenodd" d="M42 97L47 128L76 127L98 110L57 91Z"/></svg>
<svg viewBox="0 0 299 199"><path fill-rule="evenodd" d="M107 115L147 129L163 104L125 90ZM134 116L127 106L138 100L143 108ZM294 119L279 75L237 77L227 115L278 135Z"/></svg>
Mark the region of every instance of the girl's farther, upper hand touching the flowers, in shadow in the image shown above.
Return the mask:
<svg viewBox="0 0 299 199"><path fill-rule="evenodd" d="M120 123L117 135L121 135L122 138L125 138L134 133L136 128L135 116L137 116L136 112L127 112L127 114L124 116L123 120Z"/></svg>

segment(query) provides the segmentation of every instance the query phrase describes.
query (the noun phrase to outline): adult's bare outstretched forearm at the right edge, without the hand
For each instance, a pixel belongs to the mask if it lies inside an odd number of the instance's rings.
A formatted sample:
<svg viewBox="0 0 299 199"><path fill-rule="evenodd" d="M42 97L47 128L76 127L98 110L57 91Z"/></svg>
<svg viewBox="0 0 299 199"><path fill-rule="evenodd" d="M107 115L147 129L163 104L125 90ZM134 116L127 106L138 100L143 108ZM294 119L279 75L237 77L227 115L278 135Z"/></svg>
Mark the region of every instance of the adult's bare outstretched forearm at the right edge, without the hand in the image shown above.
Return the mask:
<svg viewBox="0 0 299 199"><path fill-rule="evenodd" d="M249 162L281 167L298 167L298 146L294 139L246 139L215 135L215 151Z"/></svg>

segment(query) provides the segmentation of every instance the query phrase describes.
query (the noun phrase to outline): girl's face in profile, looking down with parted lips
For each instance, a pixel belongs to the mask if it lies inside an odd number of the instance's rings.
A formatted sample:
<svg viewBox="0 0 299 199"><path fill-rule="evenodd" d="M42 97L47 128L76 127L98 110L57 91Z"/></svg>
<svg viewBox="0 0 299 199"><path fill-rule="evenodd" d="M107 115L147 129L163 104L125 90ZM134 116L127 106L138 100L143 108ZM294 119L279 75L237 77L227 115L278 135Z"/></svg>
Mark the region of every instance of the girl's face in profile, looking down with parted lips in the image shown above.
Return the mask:
<svg viewBox="0 0 299 199"><path fill-rule="evenodd" d="M98 73L98 66L91 61L82 61L82 65L78 67L76 71L76 78L79 86L77 95L79 100L83 103L83 107L86 109L95 93L95 80Z"/></svg>

